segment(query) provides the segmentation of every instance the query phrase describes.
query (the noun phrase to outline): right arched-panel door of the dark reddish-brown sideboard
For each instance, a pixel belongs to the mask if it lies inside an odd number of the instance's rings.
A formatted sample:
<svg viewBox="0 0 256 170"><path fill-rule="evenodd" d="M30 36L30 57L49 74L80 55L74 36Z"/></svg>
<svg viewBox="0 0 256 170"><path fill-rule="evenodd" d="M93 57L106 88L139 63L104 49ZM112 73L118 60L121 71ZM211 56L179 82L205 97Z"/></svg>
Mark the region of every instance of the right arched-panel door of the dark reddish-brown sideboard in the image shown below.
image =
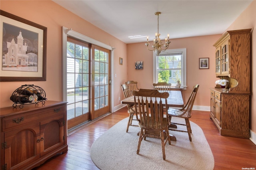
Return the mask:
<svg viewBox="0 0 256 170"><path fill-rule="evenodd" d="M64 115L40 122L40 156L64 145Z"/></svg>

